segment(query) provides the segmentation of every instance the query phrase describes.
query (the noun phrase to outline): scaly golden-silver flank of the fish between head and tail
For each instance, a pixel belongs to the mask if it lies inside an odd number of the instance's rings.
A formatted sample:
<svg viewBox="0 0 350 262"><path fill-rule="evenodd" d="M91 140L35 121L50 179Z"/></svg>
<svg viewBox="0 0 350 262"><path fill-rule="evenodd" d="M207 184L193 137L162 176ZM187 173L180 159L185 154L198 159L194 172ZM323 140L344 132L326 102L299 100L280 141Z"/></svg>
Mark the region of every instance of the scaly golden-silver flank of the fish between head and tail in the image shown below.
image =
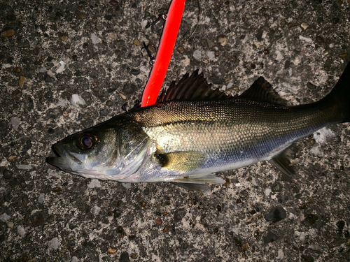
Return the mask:
<svg viewBox="0 0 350 262"><path fill-rule="evenodd" d="M165 103L134 112L130 119L139 119L145 133L160 146L161 153L206 154L203 166L182 174L188 175L267 160L293 141L337 122L336 115L335 108L319 102L288 108L233 99ZM176 170L167 171L165 176L176 173Z"/></svg>

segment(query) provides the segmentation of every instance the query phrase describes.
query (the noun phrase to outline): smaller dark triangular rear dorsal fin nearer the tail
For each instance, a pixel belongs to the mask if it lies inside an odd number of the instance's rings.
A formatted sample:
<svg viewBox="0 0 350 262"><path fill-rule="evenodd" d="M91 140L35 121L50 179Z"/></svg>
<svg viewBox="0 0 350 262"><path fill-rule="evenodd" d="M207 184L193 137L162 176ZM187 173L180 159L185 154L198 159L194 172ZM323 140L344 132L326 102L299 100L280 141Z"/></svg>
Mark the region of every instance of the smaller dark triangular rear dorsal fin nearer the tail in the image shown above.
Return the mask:
<svg viewBox="0 0 350 262"><path fill-rule="evenodd" d="M249 87L243 94L238 96L238 99L254 100L265 103L279 103L281 105L286 105L286 100L282 99L279 94L277 94L269 82L265 80L262 76L253 82L253 85Z"/></svg>

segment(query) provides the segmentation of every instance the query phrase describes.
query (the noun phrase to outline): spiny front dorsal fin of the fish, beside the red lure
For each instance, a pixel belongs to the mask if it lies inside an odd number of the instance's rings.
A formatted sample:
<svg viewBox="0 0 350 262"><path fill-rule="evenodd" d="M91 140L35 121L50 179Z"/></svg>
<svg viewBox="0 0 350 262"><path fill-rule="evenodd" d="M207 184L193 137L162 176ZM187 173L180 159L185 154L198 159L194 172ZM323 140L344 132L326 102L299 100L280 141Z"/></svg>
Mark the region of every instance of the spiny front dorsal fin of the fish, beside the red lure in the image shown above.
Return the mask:
<svg viewBox="0 0 350 262"><path fill-rule="evenodd" d="M172 82L172 85L165 91L162 90L158 96L157 103L167 101L188 101L188 100L216 100L216 99L232 99L233 96L228 96L225 92L219 89L211 89L211 85L203 77L203 73L198 73L198 69L188 76L183 75L183 78L177 85Z"/></svg>

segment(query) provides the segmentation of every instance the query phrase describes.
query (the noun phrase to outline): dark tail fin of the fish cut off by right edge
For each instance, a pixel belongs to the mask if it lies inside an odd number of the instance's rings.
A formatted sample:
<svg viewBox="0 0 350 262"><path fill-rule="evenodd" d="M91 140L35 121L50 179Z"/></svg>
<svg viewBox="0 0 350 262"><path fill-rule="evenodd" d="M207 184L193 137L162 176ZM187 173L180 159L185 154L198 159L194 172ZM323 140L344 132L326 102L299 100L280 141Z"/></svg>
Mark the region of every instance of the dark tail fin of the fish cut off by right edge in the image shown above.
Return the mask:
<svg viewBox="0 0 350 262"><path fill-rule="evenodd" d="M337 85L328 96L327 103L337 105L339 109L339 122L350 122L350 62L340 76Z"/></svg>

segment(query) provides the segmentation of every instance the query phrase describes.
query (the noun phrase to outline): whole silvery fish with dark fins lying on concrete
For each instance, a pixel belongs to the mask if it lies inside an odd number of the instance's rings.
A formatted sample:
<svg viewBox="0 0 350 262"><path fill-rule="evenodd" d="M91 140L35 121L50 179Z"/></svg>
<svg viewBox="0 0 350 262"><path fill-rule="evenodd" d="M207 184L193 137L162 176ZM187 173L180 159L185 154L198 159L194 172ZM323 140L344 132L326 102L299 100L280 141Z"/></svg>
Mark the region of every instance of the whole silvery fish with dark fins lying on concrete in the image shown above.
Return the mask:
<svg viewBox="0 0 350 262"><path fill-rule="evenodd" d="M209 192L215 173L269 161L295 174L290 148L330 124L350 122L350 63L320 101L286 105L263 77L239 96L211 89L198 70L181 78L155 105L136 108L52 146L47 161L87 178L171 182ZM288 153L289 152L289 153Z"/></svg>

